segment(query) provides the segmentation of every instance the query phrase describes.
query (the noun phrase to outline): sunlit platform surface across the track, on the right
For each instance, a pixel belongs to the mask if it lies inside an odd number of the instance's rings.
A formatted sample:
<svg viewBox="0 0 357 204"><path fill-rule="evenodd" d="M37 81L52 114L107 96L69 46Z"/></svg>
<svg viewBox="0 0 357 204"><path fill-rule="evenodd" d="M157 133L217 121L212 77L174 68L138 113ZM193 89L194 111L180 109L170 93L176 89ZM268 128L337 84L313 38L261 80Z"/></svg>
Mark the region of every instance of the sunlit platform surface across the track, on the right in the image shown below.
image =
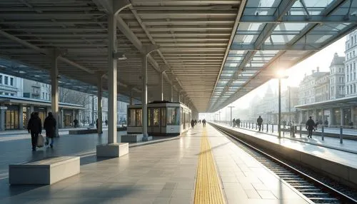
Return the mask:
<svg viewBox="0 0 357 204"><path fill-rule="evenodd" d="M259 132L246 128L232 128L231 126L223 124L218 125L230 128L238 133L244 133L281 146L286 146L327 160L332 160L336 163L350 166L351 168L357 168L357 141L354 140L344 139L343 143L340 143L339 138L325 137L324 141L322 141L321 136L313 136L312 139L308 139L306 135L303 135L302 137L296 135L295 138L292 138L289 133L286 133L284 137L279 139L276 135L267 134L265 131Z"/></svg>

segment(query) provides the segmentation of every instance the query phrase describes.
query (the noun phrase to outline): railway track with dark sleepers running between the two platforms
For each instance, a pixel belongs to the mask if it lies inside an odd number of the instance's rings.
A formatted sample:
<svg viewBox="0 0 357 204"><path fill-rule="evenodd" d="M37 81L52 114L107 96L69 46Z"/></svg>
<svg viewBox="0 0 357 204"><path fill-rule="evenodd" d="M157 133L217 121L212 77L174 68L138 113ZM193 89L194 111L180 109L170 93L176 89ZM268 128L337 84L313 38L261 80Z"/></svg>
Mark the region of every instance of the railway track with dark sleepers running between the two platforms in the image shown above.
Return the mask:
<svg viewBox="0 0 357 204"><path fill-rule="evenodd" d="M276 173L278 177L286 181L293 188L296 188L300 193L305 195L313 203L357 203L357 200L341 193L340 191L332 188L331 186L322 183L316 178L301 172L291 165L279 160L278 158L265 153L258 148L255 148L248 143L241 141L231 133L227 133L221 128L214 126L218 131L229 136L239 148L249 153L253 158L256 158L260 163L266 166L269 170Z"/></svg>

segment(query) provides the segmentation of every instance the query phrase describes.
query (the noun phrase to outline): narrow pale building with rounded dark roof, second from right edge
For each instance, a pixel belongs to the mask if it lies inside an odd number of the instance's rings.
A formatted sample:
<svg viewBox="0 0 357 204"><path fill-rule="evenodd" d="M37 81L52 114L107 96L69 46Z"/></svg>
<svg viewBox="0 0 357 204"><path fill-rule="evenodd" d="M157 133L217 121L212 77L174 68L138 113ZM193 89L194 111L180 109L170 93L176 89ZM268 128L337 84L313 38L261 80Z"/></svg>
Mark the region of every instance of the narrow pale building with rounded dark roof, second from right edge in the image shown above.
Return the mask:
<svg viewBox="0 0 357 204"><path fill-rule="evenodd" d="M330 99L345 96L345 65L343 56L333 55L330 65Z"/></svg>

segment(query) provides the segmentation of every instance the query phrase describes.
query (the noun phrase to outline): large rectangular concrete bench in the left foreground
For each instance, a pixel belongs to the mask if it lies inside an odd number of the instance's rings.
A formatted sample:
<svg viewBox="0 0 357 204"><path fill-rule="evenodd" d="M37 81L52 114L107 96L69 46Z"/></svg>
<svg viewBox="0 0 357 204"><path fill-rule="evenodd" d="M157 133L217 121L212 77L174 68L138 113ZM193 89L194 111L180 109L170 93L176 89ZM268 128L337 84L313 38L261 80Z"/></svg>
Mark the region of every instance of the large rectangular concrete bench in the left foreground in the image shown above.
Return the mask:
<svg viewBox="0 0 357 204"><path fill-rule="evenodd" d="M51 157L9 165L9 183L51 185L79 173L79 156Z"/></svg>

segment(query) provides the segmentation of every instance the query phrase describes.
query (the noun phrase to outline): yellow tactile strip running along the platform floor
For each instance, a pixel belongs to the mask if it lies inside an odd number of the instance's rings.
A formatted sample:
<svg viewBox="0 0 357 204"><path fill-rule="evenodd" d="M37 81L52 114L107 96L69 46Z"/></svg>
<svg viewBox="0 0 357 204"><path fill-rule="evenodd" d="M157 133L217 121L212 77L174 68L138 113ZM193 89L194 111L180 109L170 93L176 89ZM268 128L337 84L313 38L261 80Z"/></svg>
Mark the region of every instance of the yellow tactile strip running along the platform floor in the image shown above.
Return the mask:
<svg viewBox="0 0 357 204"><path fill-rule="evenodd" d="M194 203L225 203L206 128L203 129L201 138L201 153L198 158Z"/></svg>

